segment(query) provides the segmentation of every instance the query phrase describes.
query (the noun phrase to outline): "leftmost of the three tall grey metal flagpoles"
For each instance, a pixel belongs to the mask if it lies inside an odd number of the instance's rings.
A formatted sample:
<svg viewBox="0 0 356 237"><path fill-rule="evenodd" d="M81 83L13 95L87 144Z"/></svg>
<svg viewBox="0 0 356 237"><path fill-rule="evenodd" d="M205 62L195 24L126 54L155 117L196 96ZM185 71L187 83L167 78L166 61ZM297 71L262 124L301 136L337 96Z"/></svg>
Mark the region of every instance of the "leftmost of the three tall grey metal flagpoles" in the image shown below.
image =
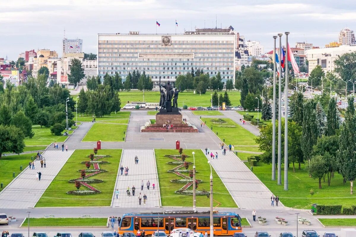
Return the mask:
<svg viewBox="0 0 356 237"><path fill-rule="evenodd" d="M276 180L276 39L273 36L272 180Z"/></svg>

